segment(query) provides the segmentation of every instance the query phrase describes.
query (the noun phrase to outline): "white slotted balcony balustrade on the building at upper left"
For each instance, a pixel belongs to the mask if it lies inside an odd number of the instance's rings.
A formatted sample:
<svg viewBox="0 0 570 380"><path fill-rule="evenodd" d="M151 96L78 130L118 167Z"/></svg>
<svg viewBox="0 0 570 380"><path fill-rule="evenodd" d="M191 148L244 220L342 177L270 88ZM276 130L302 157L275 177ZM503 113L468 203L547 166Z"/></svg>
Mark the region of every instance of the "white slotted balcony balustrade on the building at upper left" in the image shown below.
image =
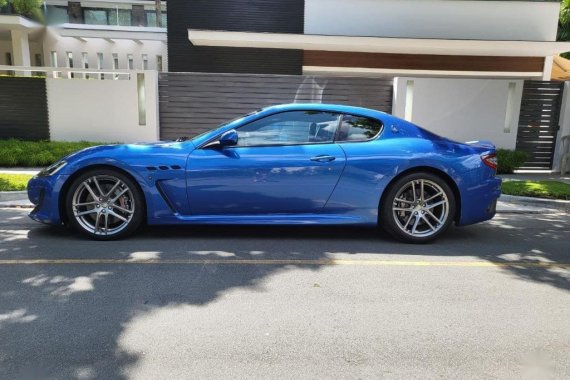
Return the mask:
<svg viewBox="0 0 570 380"><path fill-rule="evenodd" d="M103 38L85 38L85 41L73 37L46 37L44 41L44 59L46 66L51 66L50 54L57 52L57 66L67 67L68 51L73 54L73 66L82 67L82 53L88 54L89 68L97 68L97 53L103 53L103 69L113 68L113 53L118 54L119 69L125 70L127 54L133 55L135 70L142 69L142 55L148 56L148 69L156 70L156 56L162 56L163 71L168 71L166 43L161 41L141 40L137 43L128 39L115 39L114 43Z"/></svg>

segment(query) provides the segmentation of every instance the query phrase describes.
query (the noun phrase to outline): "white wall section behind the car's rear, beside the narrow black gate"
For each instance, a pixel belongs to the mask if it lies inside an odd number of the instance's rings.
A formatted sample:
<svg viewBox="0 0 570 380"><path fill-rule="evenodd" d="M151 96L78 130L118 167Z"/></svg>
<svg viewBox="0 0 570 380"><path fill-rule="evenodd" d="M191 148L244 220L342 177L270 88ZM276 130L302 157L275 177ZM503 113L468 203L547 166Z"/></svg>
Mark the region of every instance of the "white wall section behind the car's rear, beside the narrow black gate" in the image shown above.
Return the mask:
<svg viewBox="0 0 570 380"><path fill-rule="evenodd" d="M413 81L413 123L457 141L491 140L499 148L515 148L522 80L397 78L393 114L401 118L408 80ZM510 82L516 85L508 109ZM510 132L505 132L506 120Z"/></svg>

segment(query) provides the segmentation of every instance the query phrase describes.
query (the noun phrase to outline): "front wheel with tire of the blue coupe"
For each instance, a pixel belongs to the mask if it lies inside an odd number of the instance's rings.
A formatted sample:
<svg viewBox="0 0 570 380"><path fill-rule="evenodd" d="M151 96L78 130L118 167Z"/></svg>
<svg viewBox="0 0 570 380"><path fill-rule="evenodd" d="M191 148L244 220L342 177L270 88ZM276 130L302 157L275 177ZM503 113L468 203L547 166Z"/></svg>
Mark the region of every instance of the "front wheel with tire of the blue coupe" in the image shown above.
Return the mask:
<svg viewBox="0 0 570 380"><path fill-rule="evenodd" d="M94 240L117 240L144 221L145 204L137 183L113 169L94 169L77 177L65 194L69 225Z"/></svg>

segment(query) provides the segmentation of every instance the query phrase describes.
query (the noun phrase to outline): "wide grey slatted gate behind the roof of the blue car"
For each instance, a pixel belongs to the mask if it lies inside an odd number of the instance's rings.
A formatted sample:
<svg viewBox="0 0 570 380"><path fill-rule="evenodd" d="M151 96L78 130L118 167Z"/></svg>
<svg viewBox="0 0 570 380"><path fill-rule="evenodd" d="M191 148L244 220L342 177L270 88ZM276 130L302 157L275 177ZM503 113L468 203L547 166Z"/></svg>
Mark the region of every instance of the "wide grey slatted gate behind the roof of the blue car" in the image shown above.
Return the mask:
<svg viewBox="0 0 570 380"><path fill-rule="evenodd" d="M392 112L393 78L161 73L160 138L192 137L282 103L350 104Z"/></svg>

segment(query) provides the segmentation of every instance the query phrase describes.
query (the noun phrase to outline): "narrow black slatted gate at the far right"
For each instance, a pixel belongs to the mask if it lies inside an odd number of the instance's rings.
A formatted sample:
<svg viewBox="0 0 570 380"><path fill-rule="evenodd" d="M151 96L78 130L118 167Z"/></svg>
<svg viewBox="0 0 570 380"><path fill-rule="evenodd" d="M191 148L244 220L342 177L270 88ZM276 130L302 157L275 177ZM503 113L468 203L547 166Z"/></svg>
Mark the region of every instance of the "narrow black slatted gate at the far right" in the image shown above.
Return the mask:
<svg viewBox="0 0 570 380"><path fill-rule="evenodd" d="M528 159L519 169L552 169L563 88L561 82L524 82L516 149Z"/></svg>

